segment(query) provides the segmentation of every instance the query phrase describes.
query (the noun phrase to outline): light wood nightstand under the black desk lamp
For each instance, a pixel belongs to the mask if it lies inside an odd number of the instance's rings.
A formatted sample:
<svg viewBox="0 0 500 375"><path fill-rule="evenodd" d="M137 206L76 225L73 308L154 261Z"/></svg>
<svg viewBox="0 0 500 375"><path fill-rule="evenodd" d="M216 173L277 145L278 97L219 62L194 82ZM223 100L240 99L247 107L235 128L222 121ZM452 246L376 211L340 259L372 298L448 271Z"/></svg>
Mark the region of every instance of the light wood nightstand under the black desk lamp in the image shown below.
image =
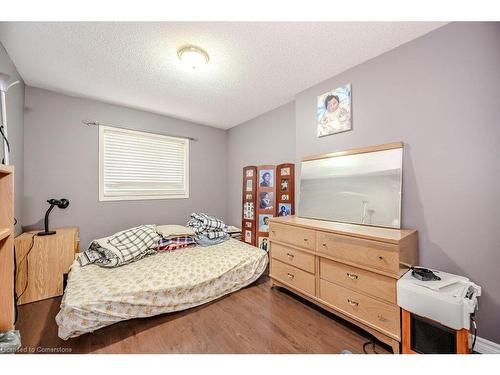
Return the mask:
<svg viewBox="0 0 500 375"><path fill-rule="evenodd" d="M55 231L51 236L37 236L38 231L25 232L14 240L17 295L26 288L19 305L63 294L64 274L69 272L79 251L79 231L77 227L56 228ZM26 256L31 245L31 252Z"/></svg>

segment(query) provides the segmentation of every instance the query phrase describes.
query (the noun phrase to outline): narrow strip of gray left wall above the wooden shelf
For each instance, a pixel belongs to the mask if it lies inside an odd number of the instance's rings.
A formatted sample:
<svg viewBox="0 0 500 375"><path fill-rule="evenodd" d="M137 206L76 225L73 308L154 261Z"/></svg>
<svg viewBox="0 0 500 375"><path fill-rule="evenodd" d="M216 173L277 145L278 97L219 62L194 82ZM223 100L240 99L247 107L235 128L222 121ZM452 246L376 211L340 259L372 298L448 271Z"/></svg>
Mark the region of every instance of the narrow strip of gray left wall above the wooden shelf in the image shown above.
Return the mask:
<svg viewBox="0 0 500 375"><path fill-rule="evenodd" d="M0 43L0 73L8 74L21 83L12 86L7 92L8 136L11 147L10 164L14 165L14 217L17 219L16 234L22 231L22 202L24 194L24 82ZM1 145L1 142L0 142ZM0 148L0 159L3 157Z"/></svg>

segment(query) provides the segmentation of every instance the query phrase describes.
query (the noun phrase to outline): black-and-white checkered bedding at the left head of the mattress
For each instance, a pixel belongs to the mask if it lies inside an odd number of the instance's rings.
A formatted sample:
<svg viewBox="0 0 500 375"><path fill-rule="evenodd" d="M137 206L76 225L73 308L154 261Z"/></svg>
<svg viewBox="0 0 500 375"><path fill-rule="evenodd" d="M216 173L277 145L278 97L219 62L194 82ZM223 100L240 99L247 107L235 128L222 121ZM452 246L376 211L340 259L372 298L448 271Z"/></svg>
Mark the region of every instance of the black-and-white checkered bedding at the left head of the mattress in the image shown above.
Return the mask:
<svg viewBox="0 0 500 375"><path fill-rule="evenodd" d="M154 225L141 225L118 232L111 237L92 241L88 250L77 257L80 266L97 264L119 267L156 253L160 235Z"/></svg>

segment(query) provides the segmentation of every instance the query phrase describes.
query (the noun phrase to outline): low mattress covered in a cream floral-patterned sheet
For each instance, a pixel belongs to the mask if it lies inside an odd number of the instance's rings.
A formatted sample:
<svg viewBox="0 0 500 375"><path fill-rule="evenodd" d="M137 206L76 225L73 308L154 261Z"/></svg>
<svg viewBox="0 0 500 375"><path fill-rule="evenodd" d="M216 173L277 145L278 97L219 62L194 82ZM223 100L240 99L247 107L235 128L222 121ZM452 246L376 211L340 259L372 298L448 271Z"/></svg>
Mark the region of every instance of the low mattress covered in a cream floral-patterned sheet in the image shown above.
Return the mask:
<svg viewBox="0 0 500 375"><path fill-rule="evenodd" d="M59 337L210 302L257 280L267 263L264 250L234 239L160 252L117 268L75 261L56 316Z"/></svg>

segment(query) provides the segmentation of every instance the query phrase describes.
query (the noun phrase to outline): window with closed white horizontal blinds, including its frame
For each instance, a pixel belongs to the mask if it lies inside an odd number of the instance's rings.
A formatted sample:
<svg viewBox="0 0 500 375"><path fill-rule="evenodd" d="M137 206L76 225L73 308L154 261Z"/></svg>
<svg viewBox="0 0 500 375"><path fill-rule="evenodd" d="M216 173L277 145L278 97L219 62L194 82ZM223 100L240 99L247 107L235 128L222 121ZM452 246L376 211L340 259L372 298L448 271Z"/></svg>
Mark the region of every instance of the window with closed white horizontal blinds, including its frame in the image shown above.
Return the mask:
<svg viewBox="0 0 500 375"><path fill-rule="evenodd" d="M99 127L99 200L189 197L189 140Z"/></svg>

